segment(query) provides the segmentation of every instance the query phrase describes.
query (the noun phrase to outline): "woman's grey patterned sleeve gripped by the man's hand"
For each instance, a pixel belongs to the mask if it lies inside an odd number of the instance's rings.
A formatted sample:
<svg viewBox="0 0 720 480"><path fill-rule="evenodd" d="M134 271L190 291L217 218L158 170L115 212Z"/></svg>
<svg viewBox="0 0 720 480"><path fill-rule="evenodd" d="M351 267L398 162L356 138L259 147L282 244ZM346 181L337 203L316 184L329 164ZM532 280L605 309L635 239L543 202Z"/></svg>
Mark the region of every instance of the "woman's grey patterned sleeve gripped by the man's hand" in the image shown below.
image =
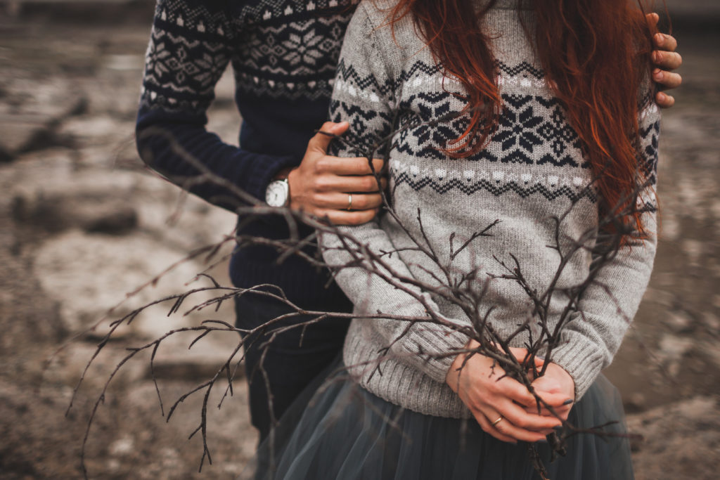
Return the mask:
<svg viewBox="0 0 720 480"><path fill-rule="evenodd" d="M371 8L374 7L361 3L348 25L336 75L330 119L333 122L350 122L350 130L344 138L355 147L333 142L332 154L340 157L364 156L370 146L392 131L395 92L399 86L395 86L389 53L380 51L374 43L377 25L372 23L366 10ZM388 45L394 45L392 40ZM373 253L395 250L392 239L377 220L355 227L339 227L338 230ZM363 266L348 266L353 256L343 248L338 235L321 235L320 245L325 262L336 273L337 284L354 303L355 313L359 316L384 313L429 319L426 308L413 294L422 296L428 306L438 312L430 296L417 287L405 284L413 292L410 294L370 273L373 269L377 270L377 265L371 265L367 258L364 258ZM408 266L397 253L384 255L383 259L396 279L412 278ZM385 272L388 273L387 270ZM453 358L433 354L442 355L453 348L461 348L467 342L465 335L436 323L415 322L408 330L408 322L405 321L361 321L374 322L374 330L382 335L387 345L392 345L392 353L402 356L405 363L413 364L441 383L445 381ZM418 352L426 355L418 355Z"/></svg>

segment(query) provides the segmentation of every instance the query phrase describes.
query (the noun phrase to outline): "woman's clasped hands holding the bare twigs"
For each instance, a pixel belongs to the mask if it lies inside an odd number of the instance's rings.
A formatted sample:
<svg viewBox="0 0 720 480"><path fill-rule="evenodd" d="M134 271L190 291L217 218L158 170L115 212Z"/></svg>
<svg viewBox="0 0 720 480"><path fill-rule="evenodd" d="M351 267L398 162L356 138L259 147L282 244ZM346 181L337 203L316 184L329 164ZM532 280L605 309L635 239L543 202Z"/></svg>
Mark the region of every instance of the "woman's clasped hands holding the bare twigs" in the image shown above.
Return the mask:
<svg viewBox="0 0 720 480"><path fill-rule="evenodd" d="M468 348L478 345L473 340ZM522 360L526 350L516 348L513 354ZM505 371L491 358L475 354L463 366L466 357L462 354L455 358L445 380L485 433L504 442L536 442L544 440L545 435L552 433L552 428L562 424L555 417L538 415L535 398L526 386L508 376L503 378ZM544 384L541 387L544 388ZM548 388L554 388L554 384ZM542 398L554 409L559 409L568 400L562 389L543 391Z"/></svg>

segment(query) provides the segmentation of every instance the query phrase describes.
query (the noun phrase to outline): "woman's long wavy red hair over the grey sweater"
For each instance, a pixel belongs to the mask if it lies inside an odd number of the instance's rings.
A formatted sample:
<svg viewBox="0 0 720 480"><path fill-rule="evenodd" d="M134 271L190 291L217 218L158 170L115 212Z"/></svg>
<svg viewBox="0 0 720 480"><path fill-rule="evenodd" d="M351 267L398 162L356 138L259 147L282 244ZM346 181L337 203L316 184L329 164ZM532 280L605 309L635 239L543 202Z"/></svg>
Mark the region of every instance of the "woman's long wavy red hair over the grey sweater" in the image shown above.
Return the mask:
<svg viewBox="0 0 720 480"><path fill-rule="evenodd" d="M409 14L436 61L467 91L469 126L446 146L455 157L485 146L502 109L490 38L480 28L495 0L486 3L477 9L475 0L398 0L389 15L394 27ZM537 58L582 141L604 208L631 207L644 181L636 149L638 92L649 78L655 32L642 0L635 6L629 0L526 3L536 18L531 42ZM643 230L639 212L623 221Z"/></svg>

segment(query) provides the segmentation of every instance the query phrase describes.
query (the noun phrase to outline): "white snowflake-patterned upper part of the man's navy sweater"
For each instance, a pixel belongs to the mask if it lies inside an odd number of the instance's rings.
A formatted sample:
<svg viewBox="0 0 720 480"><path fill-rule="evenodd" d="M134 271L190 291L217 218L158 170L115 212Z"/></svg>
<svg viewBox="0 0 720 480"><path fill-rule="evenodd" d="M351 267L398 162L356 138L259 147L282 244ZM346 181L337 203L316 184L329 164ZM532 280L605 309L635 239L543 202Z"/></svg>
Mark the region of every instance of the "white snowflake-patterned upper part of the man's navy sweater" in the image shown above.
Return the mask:
<svg viewBox="0 0 720 480"><path fill-rule="evenodd" d="M143 101L207 108L228 61L238 90L247 94L327 98L350 5L347 0L160 1Z"/></svg>

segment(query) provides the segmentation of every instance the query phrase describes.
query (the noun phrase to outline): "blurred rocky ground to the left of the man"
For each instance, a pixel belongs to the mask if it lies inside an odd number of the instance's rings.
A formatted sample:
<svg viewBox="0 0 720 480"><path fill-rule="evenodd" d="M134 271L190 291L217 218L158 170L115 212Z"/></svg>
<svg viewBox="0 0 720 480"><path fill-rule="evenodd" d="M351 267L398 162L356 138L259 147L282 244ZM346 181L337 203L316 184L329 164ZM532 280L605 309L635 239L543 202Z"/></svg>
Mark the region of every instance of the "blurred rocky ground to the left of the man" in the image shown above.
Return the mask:
<svg viewBox="0 0 720 480"><path fill-rule="evenodd" d="M171 304L144 312L116 332L64 416L109 320L163 296L209 286L207 280L193 281L208 265L202 259L180 263L156 286L129 299L125 294L233 231L232 214L179 196L145 170L135 153L135 109L152 12L147 2L105 9L30 4L12 20L0 17L2 479L78 478L92 403L125 348L207 318L233 318L230 304L186 317L167 317ZM232 89L225 78L212 128L236 142ZM210 270L223 285L229 284L226 268L222 262ZM186 304L203 298L196 295ZM110 307L114 311L107 314ZM158 350L155 373L166 415L169 404L210 378L237 343L234 334L210 335L188 350L192 338L171 337ZM186 439L199 425L202 394L187 399L166 423L148 355L127 363L89 434L90 477L238 476L256 433L248 422L243 379L216 408L226 386L220 382L209 403L212 466L206 461L197 474L202 444L199 435Z"/></svg>

